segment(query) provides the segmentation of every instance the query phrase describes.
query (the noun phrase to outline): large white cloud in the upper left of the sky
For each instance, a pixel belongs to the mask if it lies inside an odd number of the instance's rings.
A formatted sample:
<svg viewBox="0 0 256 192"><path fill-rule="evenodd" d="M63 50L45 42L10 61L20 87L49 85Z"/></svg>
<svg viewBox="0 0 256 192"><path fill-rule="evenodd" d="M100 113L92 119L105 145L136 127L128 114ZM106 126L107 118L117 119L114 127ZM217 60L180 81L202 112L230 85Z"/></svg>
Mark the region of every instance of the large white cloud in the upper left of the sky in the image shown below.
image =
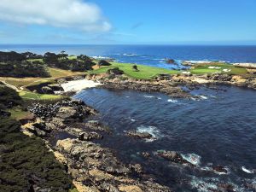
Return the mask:
<svg viewBox="0 0 256 192"><path fill-rule="evenodd" d="M100 8L82 0L0 0L0 20L85 32L108 32L111 29Z"/></svg>

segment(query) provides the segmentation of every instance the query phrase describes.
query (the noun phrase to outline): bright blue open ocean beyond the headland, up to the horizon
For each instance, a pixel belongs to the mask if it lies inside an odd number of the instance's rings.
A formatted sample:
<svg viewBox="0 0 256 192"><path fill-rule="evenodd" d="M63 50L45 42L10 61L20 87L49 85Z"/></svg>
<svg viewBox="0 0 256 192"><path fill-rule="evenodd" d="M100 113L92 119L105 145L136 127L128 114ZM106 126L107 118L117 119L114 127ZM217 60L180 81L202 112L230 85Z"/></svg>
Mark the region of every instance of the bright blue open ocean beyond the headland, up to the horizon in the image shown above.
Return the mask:
<svg viewBox="0 0 256 192"><path fill-rule="evenodd" d="M111 57L119 62L175 68L165 58L178 61L256 62L256 46L193 46L193 45L0 45L0 50L59 53Z"/></svg>

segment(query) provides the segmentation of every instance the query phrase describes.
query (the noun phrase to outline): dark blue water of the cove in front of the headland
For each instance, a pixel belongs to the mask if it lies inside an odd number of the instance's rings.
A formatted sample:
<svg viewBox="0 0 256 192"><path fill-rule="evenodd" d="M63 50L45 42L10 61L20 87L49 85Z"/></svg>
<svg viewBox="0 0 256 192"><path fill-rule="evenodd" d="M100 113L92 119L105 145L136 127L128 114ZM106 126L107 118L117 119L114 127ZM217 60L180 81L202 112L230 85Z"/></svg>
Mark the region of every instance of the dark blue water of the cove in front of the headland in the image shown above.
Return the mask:
<svg viewBox="0 0 256 192"><path fill-rule="evenodd" d="M99 119L113 130L113 136L99 143L113 148L125 163L141 163L146 173L174 191L212 191L219 183L232 183L236 191L253 191L256 168L256 92L223 86L224 90L201 88L193 94L200 101L172 99L160 93L133 90L83 90L76 96L100 111ZM149 131L158 139L141 141L125 137L124 131ZM157 158L157 150L193 154L195 168ZM140 152L152 154L145 160ZM203 171L225 166L229 173Z"/></svg>

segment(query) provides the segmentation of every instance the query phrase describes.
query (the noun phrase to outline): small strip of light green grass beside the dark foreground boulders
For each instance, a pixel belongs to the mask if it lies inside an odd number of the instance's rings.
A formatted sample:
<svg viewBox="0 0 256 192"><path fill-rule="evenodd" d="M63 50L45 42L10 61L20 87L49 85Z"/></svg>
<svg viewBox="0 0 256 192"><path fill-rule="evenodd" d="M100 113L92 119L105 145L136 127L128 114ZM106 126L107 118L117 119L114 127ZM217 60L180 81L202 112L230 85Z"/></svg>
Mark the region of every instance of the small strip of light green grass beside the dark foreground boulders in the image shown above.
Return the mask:
<svg viewBox="0 0 256 192"><path fill-rule="evenodd" d="M22 99L25 99L25 100L59 100L63 98L63 96L38 94L38 93L29 92L29 91L20 91L19 95L21 96Z"/></svg>

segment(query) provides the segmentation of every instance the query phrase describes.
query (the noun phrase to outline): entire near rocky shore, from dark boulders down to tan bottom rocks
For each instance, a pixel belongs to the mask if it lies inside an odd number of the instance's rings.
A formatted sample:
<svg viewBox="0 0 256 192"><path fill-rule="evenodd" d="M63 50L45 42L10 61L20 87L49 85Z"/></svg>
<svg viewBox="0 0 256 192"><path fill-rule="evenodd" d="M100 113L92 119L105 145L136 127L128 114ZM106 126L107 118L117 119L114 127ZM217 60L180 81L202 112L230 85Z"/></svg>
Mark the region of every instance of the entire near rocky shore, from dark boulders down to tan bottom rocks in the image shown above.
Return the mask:
<svg viewBox="0 0 256 192"><path fill-rule="evenodd" d="M37 119L22 125L22 131L44 139L56 159L67 167L79 191L171 191L155 183L154 177L146 175L141 165L125 165L110 148L93 142L111 131L90 120L97 112L84 102L32 103L29 110ZM73 137L59 139L53 144L55 135L61 132Z"/></svg>

